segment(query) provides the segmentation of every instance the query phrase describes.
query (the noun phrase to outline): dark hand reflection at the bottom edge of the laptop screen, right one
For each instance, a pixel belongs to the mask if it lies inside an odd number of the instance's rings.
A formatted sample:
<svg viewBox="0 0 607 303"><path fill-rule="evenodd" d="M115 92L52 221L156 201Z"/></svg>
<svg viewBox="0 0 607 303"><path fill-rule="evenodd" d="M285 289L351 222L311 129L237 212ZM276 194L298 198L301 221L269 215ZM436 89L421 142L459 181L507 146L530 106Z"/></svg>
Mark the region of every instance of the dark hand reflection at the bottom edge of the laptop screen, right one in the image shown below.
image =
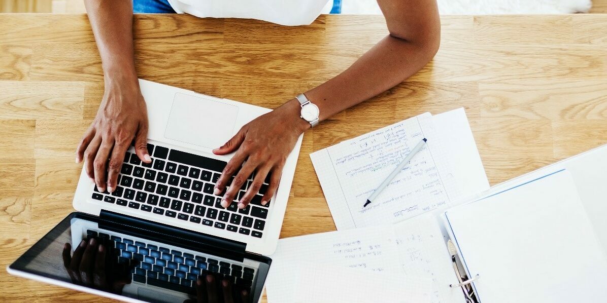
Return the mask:
<svg viewBox="0 0 607 303"><path fill-rule="evenodd" d="M183 303L249 303L249 291L234 287L227 279L217 283L217 277L209 273L196 280L196 301L186 300Z"/></svg>

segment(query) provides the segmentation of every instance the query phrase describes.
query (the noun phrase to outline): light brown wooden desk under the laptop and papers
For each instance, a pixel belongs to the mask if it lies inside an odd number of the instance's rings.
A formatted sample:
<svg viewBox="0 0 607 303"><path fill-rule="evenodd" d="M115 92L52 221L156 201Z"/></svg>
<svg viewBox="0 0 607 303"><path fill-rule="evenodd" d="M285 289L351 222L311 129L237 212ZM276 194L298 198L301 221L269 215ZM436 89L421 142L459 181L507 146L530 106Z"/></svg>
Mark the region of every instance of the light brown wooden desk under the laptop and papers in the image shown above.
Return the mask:
<svg viewBox="0 0 607 303"><path fill-rule="evenodd" d="M436 58L409 81L308 131L281 237L334 230L312 151L423 112L465 107L491 184L607 139L607 15L445 16ZM387 34L381 16L305 27L138 15L140 78L274 108ZM103 95L85 15L0 15L0 301L109 301L8 276L72 211L74 150Z"/></svg>

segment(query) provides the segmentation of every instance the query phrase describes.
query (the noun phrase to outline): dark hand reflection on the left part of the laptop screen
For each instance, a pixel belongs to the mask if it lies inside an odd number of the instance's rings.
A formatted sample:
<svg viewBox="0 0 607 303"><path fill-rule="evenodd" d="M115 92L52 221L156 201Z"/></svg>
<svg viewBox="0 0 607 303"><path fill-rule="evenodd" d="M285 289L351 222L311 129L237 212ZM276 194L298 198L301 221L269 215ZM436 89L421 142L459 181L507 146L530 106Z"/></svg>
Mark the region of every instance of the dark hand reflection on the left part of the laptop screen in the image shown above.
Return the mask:
<svg viewBox="0 0 607 303"><path fill-rule="evenodd" d="M122 293L125 284L131 283L129 269L110 258L107 247L91 238L83 240L70 256L72 247L63 247L63 265L72 282L100 290Z"/></svg>

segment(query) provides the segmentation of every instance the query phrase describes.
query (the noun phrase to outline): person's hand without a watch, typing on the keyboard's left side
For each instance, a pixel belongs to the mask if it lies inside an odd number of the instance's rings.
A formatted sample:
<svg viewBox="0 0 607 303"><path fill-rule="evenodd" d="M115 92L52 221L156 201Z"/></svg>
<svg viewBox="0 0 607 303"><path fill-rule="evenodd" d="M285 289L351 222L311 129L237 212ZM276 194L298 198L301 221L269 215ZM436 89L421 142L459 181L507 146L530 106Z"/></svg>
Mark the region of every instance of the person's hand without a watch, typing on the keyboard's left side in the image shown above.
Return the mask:
<svg viewBox="0 0 607 303"><path fill-rule="evenodd" d="M117 82L106 82L97 116L76 150L76 163L84 160L86 174L99 191L107 188L110 193L116 189L124 153L134 138L139 159L151 162L148 112L137 79Z"/></svg>

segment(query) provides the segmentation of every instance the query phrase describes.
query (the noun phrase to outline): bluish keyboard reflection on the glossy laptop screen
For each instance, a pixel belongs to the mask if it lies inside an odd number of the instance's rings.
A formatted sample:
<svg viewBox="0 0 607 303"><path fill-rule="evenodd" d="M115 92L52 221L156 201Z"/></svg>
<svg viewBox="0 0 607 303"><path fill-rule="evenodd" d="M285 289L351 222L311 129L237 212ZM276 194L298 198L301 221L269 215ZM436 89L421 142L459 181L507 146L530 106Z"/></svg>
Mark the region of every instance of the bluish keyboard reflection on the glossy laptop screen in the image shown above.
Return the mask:
<svg viewBox="0 0 607 303"><path fill-rule="evenodd" d="M175 250L151 243L108 235L101 231L87 230L87 241L98 239L112 253L119 264L131 269L132 281L149 284L181 293L196 294L198 276L214 274L228 279L245 289L253 285L255 270L242 263L225 259L208 258L192 252Z"/></svg>

